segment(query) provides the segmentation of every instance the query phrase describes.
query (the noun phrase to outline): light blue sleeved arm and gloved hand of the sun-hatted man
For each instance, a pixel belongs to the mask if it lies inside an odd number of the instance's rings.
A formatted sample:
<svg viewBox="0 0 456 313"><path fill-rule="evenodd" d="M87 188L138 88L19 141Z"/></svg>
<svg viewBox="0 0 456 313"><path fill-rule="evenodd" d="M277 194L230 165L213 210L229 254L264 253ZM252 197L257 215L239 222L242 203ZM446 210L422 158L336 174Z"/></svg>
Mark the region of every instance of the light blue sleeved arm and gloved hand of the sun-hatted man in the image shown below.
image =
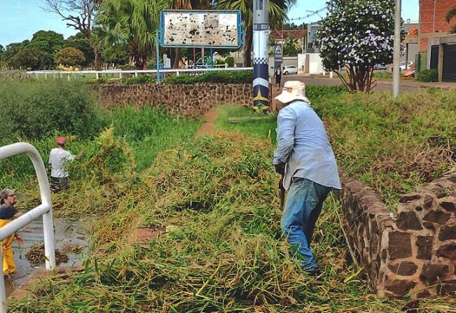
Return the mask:
<svg viewBox="0 0 456 313"><path fill-rule="evenodd" d="M289 106L280 110L277 124L277 149L272 160L272 164L276 166L276 169L277 165L284 166L293 150L296 117Z"/></svg>

